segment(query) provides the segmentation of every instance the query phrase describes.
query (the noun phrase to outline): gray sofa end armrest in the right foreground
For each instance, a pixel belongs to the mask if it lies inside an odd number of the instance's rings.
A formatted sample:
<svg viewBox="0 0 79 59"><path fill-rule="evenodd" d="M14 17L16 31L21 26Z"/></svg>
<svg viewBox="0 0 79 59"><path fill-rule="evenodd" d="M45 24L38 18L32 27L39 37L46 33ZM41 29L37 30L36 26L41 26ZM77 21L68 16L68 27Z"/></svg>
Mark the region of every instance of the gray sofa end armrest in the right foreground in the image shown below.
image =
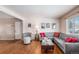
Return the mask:
<svg viewBox="0 0 79 59"><path fill-rule="evenodd" d="M65 43L65 53L67 54L74 54L79 53L79 42L76 43Z"/></svg>

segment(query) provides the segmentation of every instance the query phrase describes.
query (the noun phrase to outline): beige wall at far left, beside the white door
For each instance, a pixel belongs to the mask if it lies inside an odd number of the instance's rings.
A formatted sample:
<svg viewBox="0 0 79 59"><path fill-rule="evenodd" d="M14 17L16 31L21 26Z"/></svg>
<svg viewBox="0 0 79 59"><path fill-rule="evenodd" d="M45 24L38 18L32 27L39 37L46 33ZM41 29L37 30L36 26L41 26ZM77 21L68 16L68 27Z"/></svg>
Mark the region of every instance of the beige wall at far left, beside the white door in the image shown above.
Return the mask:
<svg viewBox="0 0 79 59"><path fill-rule="evenodd" d="M0 40L14 40L14 20L0 18Z"/></svg>

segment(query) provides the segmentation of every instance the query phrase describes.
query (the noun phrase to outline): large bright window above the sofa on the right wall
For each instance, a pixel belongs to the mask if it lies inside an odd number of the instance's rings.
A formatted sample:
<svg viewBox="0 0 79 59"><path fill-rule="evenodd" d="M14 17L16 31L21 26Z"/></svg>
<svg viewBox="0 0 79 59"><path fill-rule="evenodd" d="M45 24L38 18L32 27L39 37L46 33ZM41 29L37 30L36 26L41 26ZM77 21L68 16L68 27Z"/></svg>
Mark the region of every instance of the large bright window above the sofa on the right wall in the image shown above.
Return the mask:
<svg viewBox="0 0 79 59"><path fill-rule="evenodd" d="M79 34L79 16L66 20L66 31L68 34Z"/></svg>

